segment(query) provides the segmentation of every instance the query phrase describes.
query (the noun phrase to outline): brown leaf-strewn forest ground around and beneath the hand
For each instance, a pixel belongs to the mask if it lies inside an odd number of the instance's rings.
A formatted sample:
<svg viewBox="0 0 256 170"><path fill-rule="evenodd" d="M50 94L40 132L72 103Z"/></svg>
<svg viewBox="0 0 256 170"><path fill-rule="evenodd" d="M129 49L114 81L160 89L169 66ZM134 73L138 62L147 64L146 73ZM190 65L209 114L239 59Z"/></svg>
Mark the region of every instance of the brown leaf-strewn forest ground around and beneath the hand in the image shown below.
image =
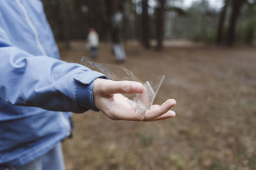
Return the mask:
<svg viewBox="0 0 256 170"><path fill-rule="evenodd" d="M79 62L84 41L61 58ZM110 45L97 62L116 64ZM74 137L63 142L71 169L256 169L256 48L178 45L163 52L125 44L118 64L142 80L166 76L154 103L176 99L175 118L113 121L101 112L75 114Z"/></svg>

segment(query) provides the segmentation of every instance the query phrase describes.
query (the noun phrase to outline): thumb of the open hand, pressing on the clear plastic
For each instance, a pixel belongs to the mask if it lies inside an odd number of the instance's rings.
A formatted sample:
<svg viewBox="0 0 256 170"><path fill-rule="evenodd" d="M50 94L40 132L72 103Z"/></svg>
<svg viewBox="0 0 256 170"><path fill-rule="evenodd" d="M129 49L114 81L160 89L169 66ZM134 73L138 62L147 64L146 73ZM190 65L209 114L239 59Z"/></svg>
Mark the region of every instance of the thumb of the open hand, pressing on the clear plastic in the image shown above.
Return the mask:
<svg viewBox="0 0 256 170"><path fill-rule="evenodd" d="M136 81L112 81L108 80L102 86L104 94L140 94L144 87Z"/></svg>

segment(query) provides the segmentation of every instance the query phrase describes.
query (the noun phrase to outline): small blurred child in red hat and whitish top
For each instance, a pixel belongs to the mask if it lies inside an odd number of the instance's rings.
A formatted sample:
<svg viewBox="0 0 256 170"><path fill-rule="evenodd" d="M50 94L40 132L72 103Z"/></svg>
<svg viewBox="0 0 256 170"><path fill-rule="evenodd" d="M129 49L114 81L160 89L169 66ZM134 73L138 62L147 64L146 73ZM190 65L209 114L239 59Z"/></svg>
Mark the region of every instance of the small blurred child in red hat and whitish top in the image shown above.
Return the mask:
<svg viewBox="0 0 256 170"><path fill-rule="evenodd" d="M90 50L90 55L93 58L98 57L98 46L99 46L99 36L94 28L89 29L87 47Z"/></svg>

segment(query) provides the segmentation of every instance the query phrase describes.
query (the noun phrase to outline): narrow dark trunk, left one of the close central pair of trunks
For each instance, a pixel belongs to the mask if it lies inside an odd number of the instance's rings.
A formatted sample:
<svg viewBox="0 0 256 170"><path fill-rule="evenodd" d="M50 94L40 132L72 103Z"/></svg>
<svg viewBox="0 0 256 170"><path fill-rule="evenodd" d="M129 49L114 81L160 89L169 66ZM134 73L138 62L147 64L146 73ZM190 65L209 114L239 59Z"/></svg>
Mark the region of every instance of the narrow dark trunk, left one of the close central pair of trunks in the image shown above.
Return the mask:
<svg viewBox="0 0 256 170"><path fill-rule="evenodd" d="M145 48L149 48L149 17L148 0L142 0L142 43Z"/></svg>

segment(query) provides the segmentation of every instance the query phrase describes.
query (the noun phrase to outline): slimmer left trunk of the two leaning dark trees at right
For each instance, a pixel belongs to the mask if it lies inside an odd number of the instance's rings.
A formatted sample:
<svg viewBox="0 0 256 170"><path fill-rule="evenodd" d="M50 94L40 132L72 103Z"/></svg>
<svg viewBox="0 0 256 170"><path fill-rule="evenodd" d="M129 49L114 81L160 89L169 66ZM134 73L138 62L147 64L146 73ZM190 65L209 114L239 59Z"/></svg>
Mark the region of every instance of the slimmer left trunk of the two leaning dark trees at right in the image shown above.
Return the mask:
<svg viewBox="0 0 256 170"><path fill-rule="evenodd" d="M228 6L228 0L225 0L224 6L220 12L220 20L219 20L218 31L216 36L217 45L220 45L220 43L223 41L223 28L224 28L226 13L227 13L227 6Z"/></svg>

